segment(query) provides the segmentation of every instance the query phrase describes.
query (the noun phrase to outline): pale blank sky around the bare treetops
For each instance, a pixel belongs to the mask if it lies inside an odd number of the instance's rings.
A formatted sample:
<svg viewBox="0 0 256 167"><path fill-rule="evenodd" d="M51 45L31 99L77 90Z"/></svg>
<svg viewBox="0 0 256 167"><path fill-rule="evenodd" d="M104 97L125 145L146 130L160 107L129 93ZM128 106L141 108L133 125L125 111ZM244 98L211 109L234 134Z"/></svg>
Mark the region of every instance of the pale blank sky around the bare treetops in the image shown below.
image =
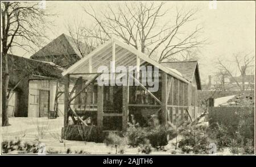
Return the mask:
<svg viewBox="0 0 256 167"><path fill-rule="evenodd" d="M85 14L81 6L88 7L89 3L95 7L96 12L104 10L108 3L123 2L46 2L47 9L57 13L55 26L49 32L50 39L55 39L60 34L68 34L65 25L82 19L90 24L90 18ZM204 27L203 37L208 38L210 44L200 49L199 69L202 82L207 82L208 75L216 72L213 61L216 57L232 60L232 54L236 52L255 53L255 3L254 1L218 2L217 9L209 9L209 1L204 2L167 2L166 9L184 7L199 7L197 23ZM31 56L19 49L14 54L26 57Z"/></svg>

